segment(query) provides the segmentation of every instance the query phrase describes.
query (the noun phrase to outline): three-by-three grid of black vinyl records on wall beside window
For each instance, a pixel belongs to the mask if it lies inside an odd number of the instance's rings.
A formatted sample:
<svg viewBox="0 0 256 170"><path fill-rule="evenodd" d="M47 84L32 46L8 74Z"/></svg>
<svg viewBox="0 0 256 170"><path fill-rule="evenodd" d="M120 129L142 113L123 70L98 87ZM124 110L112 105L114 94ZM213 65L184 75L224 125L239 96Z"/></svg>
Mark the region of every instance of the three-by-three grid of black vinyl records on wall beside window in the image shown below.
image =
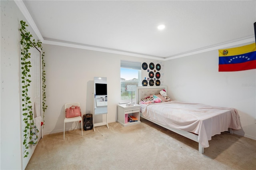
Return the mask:
<svg viewBox="0 0 256 170"><path fill-rule="evenodd" d="M144 79L142 80L142 86L160 86L160 70L161 70L161 65L159 63L149 63L147 64L146 62L142 63L142 75L144 75Z"/></svg>

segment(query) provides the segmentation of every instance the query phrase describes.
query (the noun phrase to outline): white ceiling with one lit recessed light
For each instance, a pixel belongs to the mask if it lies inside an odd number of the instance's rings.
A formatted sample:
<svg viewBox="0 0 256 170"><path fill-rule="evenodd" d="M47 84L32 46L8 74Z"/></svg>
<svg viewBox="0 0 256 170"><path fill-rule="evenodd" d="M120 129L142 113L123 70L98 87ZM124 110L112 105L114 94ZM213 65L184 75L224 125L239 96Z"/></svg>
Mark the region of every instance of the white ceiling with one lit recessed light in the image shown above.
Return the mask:
<svg viewBox="0 0 256 170"><path fill-rule="evenodd" d="M254 41L256 1L23 0L22 4L42 43L168 59ZM165 29L158 30L159 24Z"/></svg>

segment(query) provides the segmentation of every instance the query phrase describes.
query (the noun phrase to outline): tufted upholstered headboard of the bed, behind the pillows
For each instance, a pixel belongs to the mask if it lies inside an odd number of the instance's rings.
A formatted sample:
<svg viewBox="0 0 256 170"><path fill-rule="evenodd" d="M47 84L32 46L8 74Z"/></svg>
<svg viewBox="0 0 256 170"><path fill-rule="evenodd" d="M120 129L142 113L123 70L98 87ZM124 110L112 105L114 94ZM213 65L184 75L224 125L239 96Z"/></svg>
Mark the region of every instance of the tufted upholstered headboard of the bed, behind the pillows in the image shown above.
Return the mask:
<svg viewBox="0 0 256 170"><path fill-rule="evenodd" d="M137 87L137 91L136 91L136 103L139 104L140 100L148 97L150 95L158 95L160 94L159 92L165 89L166 93L167 93L167 86L157 86L157 87Z"/></svg>

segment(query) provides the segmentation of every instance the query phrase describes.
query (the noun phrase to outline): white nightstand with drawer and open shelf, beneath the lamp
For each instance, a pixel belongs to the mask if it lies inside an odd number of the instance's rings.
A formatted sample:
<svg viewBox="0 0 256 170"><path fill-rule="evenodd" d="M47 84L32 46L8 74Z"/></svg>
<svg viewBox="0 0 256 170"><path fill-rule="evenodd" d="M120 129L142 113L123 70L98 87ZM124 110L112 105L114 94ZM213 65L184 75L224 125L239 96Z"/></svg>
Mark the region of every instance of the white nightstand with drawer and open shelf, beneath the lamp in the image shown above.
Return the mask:
<svg viewBox="0 0 256 170"><path fill-rule="evenodd" d="M133 106L126 106L126 104L119 104L118 107L118 123L126 127L140 123L140 105L134 104ZM128 115L134 116L138 119L135 122L128 122Z"/></svg>

